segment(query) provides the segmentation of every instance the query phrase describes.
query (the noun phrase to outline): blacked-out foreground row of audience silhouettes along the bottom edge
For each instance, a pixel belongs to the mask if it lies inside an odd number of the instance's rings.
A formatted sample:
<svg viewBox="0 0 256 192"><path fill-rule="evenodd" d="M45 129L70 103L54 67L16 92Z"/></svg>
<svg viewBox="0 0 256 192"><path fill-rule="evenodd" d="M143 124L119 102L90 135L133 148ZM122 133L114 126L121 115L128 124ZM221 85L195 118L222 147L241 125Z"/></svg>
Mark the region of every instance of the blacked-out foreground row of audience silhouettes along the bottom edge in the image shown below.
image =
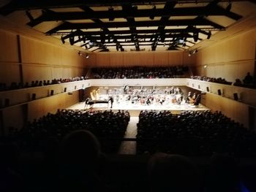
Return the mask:
<svg viewBox="0 0 256 192"><path fill-rule="evenodd" d="M0 154L0 191L240 192L253 180L226 154L211 155L205 164L175 153L113 158L83 129L69 132L47 158L24 158L3 143Z"/></svg>

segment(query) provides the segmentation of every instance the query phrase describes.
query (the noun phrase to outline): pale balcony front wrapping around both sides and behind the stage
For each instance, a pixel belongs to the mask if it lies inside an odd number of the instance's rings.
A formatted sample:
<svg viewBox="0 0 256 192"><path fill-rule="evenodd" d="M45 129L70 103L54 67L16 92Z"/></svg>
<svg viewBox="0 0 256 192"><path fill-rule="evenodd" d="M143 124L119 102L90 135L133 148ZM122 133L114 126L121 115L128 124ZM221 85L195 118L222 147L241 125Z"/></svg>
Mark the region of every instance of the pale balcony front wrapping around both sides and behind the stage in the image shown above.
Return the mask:
<svg viewBox="0 0 256 192"><path fill-rule="evenodd" d="M49 96L78 91L91 86L118 87L118 86L187 86L205 93L213 93L224 96L228 99L256 106L256 90L234 85L224 85L216 82L192 80L187 78L170 79L90 79L74 82L64 82L55 85L46 85L33 88L22 88L0 92L0 108L13 107L19 104L26 104L37 99L44 99Z"/></svg>

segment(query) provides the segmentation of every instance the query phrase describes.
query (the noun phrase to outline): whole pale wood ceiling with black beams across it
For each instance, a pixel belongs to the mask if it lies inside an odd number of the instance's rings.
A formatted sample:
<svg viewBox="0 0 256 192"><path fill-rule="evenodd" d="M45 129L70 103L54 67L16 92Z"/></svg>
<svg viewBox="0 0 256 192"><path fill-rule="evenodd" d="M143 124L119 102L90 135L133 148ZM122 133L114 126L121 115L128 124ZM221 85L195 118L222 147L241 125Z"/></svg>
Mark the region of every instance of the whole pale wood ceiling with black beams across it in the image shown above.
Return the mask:
<svg viewBox="0 0 256 192"><path fill-rule="evenodd" d="M192 50L255 14L254 1L12 0L0 14L91 52ZM255 23L252 23L252 25ZM226 33L228 35L228 33ZM216 39L217 40L217 39Z"/></svg>

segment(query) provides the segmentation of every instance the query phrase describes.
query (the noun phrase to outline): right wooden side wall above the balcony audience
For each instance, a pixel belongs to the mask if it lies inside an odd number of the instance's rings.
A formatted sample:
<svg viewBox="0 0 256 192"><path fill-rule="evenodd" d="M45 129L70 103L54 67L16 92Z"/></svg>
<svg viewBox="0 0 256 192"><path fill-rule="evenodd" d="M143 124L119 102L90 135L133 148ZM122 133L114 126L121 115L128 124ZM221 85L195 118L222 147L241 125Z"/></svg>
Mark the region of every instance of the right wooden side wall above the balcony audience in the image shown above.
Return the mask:
<svg viewBox="0 0 256 192"><path fill-rule="evenodd" d="M252 75L255 72L255 47L256 29L215 43L195 54L193 72L200 76L222 77L230 82L237 78L243 80L247 72Z"/></svg>

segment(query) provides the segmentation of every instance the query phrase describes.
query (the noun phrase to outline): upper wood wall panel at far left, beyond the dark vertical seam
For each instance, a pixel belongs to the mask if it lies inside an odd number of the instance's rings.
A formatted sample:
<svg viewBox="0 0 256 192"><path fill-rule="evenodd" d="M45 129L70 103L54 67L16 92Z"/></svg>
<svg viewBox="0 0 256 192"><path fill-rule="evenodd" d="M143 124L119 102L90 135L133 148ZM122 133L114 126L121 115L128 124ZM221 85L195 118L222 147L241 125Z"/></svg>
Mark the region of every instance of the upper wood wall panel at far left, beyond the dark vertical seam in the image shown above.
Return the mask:
<svg viewBox="0 0 256 192"><path fill-rule="evenodd" d="M17 35L0 30L0 62L18 62Z"/></svg>

